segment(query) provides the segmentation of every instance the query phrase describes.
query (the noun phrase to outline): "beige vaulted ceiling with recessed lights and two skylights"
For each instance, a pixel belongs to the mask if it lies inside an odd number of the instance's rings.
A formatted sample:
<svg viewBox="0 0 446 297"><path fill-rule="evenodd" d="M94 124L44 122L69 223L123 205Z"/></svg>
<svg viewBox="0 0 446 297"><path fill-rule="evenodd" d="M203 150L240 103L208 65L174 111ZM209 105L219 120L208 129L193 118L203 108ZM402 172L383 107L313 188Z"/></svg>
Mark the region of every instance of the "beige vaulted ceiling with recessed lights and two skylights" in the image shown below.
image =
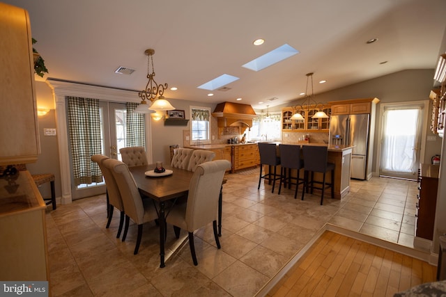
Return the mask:
<svg viewBox="0 0 446 297"><path fill-rule="evenodd" d="M155 49L164 96L262 109L408 69L430 69L446 28L444 0L8 0L28 10L44 79L142 90ZM263 45L253 41L263 38ZM378 41L367 44L367 40ZM242 67L288 44L300 51L255 72ZM118 67L135 70L116 74ZM229 90L197 88L222 74ZM323 84L317 83L325 79ZM208 93L213 93L208 97ZM273 100L273 98L276 98ZM259 102L264 102L259 104Z"/></svg>

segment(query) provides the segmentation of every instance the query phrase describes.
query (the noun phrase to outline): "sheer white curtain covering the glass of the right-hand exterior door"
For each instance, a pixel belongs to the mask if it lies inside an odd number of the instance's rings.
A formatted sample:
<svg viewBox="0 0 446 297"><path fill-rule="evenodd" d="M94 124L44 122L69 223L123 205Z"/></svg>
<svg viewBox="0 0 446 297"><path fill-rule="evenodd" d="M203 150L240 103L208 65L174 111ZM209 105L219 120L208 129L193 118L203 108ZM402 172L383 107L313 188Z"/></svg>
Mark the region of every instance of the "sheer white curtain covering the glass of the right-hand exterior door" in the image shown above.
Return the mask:
<svg viewBox="0 0 446 297"><path fill-rule="evenodd" d="M422 106L384 109L380 168L383 172L417 172L417 139L422 126Z"/></svg>

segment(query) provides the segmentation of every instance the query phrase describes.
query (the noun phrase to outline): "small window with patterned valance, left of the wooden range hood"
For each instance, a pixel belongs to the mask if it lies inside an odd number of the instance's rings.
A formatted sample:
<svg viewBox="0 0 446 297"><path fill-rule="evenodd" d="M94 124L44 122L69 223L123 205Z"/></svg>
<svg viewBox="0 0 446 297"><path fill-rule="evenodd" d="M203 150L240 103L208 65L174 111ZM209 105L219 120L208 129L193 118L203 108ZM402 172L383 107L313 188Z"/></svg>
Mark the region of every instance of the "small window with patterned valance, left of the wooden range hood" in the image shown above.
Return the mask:
<svg viewBox="0 0 446 297"><path fill-rule="evenodd" d="M190 106L191 142L210 143L210 108Z"/></svg>

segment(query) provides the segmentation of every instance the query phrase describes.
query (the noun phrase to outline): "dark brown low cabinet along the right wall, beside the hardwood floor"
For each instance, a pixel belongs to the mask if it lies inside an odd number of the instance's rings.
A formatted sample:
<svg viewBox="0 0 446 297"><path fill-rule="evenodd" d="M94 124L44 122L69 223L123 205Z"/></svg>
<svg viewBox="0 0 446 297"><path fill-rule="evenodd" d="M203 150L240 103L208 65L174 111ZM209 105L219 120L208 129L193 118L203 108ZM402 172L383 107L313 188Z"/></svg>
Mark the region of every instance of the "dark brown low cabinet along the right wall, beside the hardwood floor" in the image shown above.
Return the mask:
<svg viewBox="0 0 446 297"><path fill-rule="evenodd" d="M439 165L420 164L418 202L415 209L415 236L433 239L433 224L437 204Z"/></svg>

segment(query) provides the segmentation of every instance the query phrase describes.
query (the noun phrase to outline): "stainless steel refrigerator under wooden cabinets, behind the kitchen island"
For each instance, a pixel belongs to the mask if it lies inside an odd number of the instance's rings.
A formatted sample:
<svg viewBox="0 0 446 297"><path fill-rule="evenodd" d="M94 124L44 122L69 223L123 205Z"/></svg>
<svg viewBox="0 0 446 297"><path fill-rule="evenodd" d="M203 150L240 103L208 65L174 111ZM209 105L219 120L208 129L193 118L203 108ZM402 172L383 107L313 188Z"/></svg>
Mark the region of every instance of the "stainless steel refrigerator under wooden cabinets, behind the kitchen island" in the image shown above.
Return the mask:
<svg viewBox="0 0 446 297"><path fill-rule="evenodd" d="M332 115L330 145L351 145L351 178L367 179L370 115Z"/></svg>

